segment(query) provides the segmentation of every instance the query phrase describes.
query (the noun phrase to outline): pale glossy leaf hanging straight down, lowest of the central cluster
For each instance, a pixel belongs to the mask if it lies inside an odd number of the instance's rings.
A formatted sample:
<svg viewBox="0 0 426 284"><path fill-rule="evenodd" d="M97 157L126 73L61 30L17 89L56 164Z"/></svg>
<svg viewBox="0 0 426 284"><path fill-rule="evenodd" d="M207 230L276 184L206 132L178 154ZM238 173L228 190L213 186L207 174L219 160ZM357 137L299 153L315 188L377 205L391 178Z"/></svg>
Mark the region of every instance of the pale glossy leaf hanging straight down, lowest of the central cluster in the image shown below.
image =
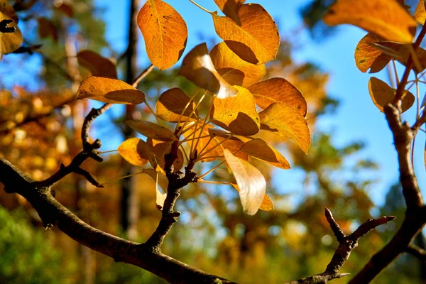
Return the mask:
<svg viewBox="0 0 426 284"><path fill-rule="evenodd" d="M265 178L257 168L232 155L229 150L225 150L224 155L239 187L239 197L244 213L256 214L266 192Z"/></svg>

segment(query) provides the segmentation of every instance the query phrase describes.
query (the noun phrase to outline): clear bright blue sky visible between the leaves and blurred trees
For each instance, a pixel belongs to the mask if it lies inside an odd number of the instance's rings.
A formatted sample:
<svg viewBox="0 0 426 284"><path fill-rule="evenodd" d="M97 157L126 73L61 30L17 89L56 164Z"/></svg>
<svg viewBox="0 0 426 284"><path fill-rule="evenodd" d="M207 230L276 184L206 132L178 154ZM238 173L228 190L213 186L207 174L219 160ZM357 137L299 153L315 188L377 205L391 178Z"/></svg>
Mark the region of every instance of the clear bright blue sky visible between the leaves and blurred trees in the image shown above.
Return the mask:
<svg viewBox="0 0 426 284"><path fill-rule="evenodd" d="M107 39L115 50L126 48L126 19L128 18L129 1L96 0L98 6L106 8L104 18L107 22ZM140 6L145 1L141 1ZM188 0L166 0L185 19L189 38L185 53L195 45L211 38L219 41L214 32L212 18L206 12L198 9ZM253 1L246 1L247 3ZM299 9L307 0L258 0L279 25L281 35L286 38L293 36L295 28L302 26ZM213 0L199 0L198 4L210 11L216 11L217 6ZM351 141L365 141L366 149L361 153L364 158L370 158L380 165L380 170L375 178L379 180L371 188L370 195L376 204L382 204L388 188L398 179L398 164L395 149L393 148L391 131L380 111L371 102L368 94L367 83L371 75L360 72L354 62L354 49L359 40L366 34L360 28L342 26L339 31L327 40L316 43L311 40L306 31L297 33L295 42L301 48L295 53L297 62L312 61L317 63L322 70L329 72L330 82L327 86L329 94L341 101L337 115L329 116L320 121L320 129L334 133L334 143L343 146ZM202 37L200 38L200 35ZM209 46L210 48L212 46ZM149 65L146 58L143 38L139 38L138 65L143 69ZM185 54L184 54L185 55ZM400 70L402 74L403 69ZM374 75L388 82L386 71ZM422 90L421 94L424 94ZM415 112L409 111L404 116L413 121ZM415 148L415 171L421 187L426 186L426 174L423 161L423 147L425 135L417 136ZM292 170L280 172L280 180L285 180L293 175ZM424 192L425 193L425 189Z"/></svg>

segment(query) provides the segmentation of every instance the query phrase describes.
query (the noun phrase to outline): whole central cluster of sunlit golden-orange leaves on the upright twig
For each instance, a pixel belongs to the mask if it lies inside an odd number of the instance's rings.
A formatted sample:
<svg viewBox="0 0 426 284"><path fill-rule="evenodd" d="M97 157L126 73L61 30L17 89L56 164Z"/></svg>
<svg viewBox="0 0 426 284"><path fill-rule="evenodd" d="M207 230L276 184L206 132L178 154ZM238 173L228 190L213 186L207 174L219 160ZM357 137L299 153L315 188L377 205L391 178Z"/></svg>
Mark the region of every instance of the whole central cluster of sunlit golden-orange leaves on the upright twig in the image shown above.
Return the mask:
<svg viewBox="0 0 426 284"><path fill-rule="evenodd" d="M173 145L178 148L174 171L180 170L185 160L187 165L220 160L209 172L200 175L198 181L203 182L205 175L225 164L236 179L232 185L239 191L244 212L255 214L259 207L273 209L273 204L266 195L266 180L248 162L249 156L278 168L290 168L283 155L256 134L269 131L293 139L307 153L310 147L305 119L307 104L288 80L271 78L259 82L266 74L265 63L275 59L280 44L278 28L268 12L259 4L244 4L244 1L215 2L226 16L204 10L211 14L214 28L224 41L210 51L205 43L197 45L187 53L179 71L205 92L196 92L190 98L181 89L166 90L152 111L158 124L126 121L147 140L131 138L118 150L133 165L151 163L153 171L146 169L146 173L157 181L162 179L157 173L165 175L165 155ZM161 0L147 1L138 13L138 26L154 66L164 70L178 62L185 50L187 27L172 6ZM109 69L102 62L107 59L99 55L84 58L93 76L80 85L78 99L112 104L145 103L151 109L143 92L111 76L114 67ZM106 74L107 70L111 72ZM210 107L200 117L198 108L203 99L210 99ZM160 120L175 124L174 129L160 125ZM166 186L162 186L164 190ZM159 187L157 191L157 205L162 207L166 194Z"/></svg>

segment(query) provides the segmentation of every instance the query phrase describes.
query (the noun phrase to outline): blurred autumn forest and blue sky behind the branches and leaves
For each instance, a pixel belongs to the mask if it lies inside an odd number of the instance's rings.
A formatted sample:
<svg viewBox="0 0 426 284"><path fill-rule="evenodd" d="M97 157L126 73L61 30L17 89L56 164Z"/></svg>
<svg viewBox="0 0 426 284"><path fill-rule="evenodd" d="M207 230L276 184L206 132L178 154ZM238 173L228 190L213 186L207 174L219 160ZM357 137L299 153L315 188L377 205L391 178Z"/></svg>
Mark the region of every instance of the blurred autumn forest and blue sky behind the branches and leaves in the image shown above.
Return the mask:
<svg viewBox="0 0 426 284"><path fill-rule="evenodd" d="M2 58L0 125L55 108L70 98L79 80L89 75L76 62L75 54L80 50L93 50L114 60L123 80L129 76L129 56L137 72L148 67L140 31L136 31L136 52L126 53L131 4L140 9L144 2L38 0L28 11L18 13L24 44L42 47L33 54ZM199 43L207 42L212 48L220 42L208 13L190 1L166 2L187 23L184 56ZM255 1L246 1L251 2ZM217 10L213 0L197 3ZM342 269L356 274L391 239L405 209L391 132L368 95L371 75L361 73L354 63L354 49L366 32L349 26L324 26L320 19L332 0L256 3L271 13L282 41L277 60L267 65L265 79L285 77L305 95L313 133L310 152L306 156L289 141L265 137L292 165L290 170L280 170L253 161L268 180L267 192L275 205L272 212L258 212L253 217L242 214L238 195L229 185L185 188L177 205L182 217L166 238L163 251L241 283L283 283L324 271L334 253L337 241L324 218L324 207L332 210L348 233L371 217L398 217L361 239ZM417 1L405 4L415 8ZM194 85L177 76L178 66L163 72L154 70L140 84L151 105L170 87L181 87L187 94L196 92ZM386 70L375 76L391 84ZM99 104L72 102L43 119L0 131L0 155L36 179L47 178L60 163L70 163L80 151L82 119L91 107ZM102 151L115 150L129 137L123 127L128 111L116 105L94 123L92 137L101 138ZM138 107L131 117L153 119L144 107ZM415 111L408 111L404 117L413 121ZM423 193L424 145L425 135L420 133L414 163ZM57 185L56 197L92 226L144 241L160 219L155 208L155 185L146 175L134 175L123 182L119 178L126 171L137 173L140 169L129 169L114 151L105 153L104 158L104 163L84 163L84 168L105 183L104 188L71 175ZM211 166L200 165L197 171L204 173ZM230 181L226 170L215 170L208 179ZM425 247L422 234L416 242ZM350 277L334 283L346 283ZM425 281L426 263L405 254L376 279L376 283ZM58 229L45 231L26 200L0 190L0 283L165 282L140 268L114 263Z"/></svg>

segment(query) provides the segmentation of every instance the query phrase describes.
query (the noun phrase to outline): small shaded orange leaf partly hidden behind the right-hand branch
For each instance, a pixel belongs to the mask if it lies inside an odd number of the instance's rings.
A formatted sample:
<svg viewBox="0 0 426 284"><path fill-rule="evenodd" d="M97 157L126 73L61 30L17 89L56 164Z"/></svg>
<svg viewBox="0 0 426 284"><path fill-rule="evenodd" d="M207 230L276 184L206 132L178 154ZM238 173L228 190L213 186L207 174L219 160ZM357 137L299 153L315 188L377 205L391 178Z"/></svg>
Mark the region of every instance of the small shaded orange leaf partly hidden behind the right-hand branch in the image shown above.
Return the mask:
<svg viewBox="0 0 426 284"><path fill-rule="evenodd" d="M371 77L368 81L368 92L376 107L383 112L383 107L391 103L395 97L396 90L376 77ZM403 112L410 109L414 104L415 97L410 92L405 92L403 96Z"/></svg>

